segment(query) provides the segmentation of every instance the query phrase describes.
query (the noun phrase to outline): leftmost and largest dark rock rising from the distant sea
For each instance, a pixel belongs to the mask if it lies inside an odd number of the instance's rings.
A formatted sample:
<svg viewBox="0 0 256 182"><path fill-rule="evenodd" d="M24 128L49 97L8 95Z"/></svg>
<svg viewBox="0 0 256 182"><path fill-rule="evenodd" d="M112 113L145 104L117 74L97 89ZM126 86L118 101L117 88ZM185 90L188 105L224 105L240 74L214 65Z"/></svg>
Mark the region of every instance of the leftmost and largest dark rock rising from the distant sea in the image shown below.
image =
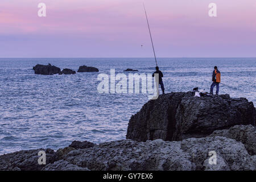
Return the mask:
<svg viewBox="0 0 256 182"><path fill-rule="evenodd" d="M60 74L60 68L52 66L51 64L42 65L37 64L33 67L36 75L54 75Z"/></svg>

